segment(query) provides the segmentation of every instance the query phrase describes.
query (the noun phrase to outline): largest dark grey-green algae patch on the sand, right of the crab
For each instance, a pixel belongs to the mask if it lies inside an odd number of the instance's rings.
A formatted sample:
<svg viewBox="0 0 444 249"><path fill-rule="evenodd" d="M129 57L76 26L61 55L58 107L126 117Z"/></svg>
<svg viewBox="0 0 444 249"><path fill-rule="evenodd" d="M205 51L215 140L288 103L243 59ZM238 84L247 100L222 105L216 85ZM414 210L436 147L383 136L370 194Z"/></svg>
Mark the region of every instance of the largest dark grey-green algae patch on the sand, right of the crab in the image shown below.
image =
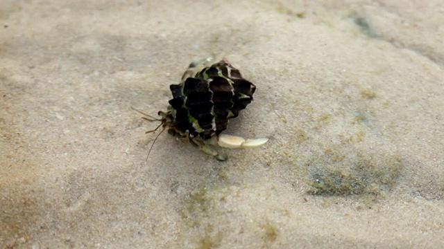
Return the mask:
<svg viewBox="0 0 444 249"><path fill-rule="evenodd" d="M381 196L397 182L402 160L390 154L327 151L309 163L309 194Z"/></svg>

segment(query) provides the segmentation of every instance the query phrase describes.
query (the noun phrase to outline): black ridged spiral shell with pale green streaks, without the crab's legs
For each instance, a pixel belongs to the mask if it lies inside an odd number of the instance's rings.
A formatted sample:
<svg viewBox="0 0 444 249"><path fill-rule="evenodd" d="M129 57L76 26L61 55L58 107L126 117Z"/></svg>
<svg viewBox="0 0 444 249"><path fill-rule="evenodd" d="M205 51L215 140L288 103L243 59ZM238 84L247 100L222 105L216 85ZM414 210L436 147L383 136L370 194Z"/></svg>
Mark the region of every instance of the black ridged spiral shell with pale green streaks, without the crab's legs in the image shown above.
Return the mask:
<svg viewBox="0 0 444 249"><path fill-rule="evenodd" d="M225 60L203 68L180 84L171 84L170 129L204 140L227 129L228 120L253 101L256 86Z"/></svg>

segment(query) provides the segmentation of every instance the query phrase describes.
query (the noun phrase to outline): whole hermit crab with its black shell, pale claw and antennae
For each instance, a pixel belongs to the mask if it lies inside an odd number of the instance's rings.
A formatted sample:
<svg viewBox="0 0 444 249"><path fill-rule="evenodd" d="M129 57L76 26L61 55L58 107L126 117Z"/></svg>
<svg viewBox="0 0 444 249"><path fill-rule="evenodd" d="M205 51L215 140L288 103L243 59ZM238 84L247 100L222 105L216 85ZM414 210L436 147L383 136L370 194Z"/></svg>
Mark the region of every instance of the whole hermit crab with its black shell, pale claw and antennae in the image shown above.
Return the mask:
<svg viewBox="0 0 444 249"><path fill-rule="evenodd" d="M180 84L169 86L173 99L169 100L167 111L157 113L161 118L153 118L139 111L148 117L144 117L145 120L161 122L156 129L146 133L163 127L162 131L167 129L177 138L187 138L191 145L217 160L227 158L212 148L213 145L226 148L264 145L268 138L244 139L221 134L227 129L228 121L236 118L239 111L253 101L256 86L245 80L239 70L225 59L203 68L193 77L196 66L208 61L203 59L192 62L183 73Z"/></svg>

